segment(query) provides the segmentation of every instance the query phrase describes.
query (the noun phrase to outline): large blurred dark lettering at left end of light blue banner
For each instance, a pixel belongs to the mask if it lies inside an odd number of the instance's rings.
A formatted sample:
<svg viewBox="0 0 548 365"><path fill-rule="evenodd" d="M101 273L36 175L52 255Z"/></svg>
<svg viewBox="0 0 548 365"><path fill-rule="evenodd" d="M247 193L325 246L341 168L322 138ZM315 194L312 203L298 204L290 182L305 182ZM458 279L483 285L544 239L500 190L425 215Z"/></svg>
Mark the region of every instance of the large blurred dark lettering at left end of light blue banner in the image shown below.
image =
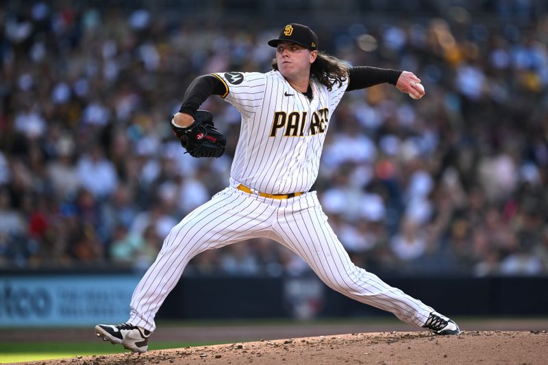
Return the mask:
<svg viewBox="0 0 548 365"><path fill-rule="evenodd" d="M0 288L0 316L47 316L51 312L51 296L42 288Z"/></svg>

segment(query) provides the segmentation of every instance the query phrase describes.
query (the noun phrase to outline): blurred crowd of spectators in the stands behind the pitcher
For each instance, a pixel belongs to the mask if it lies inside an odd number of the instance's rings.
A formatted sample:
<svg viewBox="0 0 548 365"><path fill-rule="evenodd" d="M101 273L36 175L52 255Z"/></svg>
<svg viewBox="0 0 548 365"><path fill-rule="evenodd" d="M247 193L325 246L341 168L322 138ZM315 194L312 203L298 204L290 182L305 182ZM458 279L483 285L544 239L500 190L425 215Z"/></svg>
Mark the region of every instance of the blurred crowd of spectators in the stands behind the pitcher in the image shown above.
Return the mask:
<svg viewBox="0 0 548 365"><path fill-rule="evenodd" d="M170 22L146 8L29 2L0 10L0 268L146 269L188 212L228 184L238 112L203 109L227 153L195 159L169 127L198 75L270 69L279 23ZM338 106L316 181L355 264L397 273L548 273L548 14L520 23L387 18L326 27L320 48L352 65L414 72ZM169 11L169 10L166 10ZM511 12L511 11L510 11ZM291 21L291 20L288 20ZM196 275L299 275L271 240L195 257Z"/></svg>

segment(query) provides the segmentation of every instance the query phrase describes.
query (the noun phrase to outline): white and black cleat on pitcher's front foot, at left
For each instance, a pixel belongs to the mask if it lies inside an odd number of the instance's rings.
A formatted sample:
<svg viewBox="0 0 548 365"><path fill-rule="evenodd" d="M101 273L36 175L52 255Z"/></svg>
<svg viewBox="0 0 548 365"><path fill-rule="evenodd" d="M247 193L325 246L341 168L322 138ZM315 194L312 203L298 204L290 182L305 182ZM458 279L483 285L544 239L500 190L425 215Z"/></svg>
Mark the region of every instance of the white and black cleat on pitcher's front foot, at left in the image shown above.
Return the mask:
<svg viewBox="0 0 548 365"><path fill-rule="evenodd" d="M128 350L137 353L147 352L149 348L150 331L122 323L121 325L97 325L95 336L103 338L103 341L110 341L112 344L121 344Z"/></svg>

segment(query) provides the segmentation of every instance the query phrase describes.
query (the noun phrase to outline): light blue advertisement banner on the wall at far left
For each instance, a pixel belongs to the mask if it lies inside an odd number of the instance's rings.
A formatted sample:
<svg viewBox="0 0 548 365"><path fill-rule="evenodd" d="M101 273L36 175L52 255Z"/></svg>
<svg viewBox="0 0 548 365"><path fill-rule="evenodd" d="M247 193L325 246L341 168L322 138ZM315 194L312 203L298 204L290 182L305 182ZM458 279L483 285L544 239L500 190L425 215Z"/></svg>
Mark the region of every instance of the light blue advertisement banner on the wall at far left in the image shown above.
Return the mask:
<svg viewBox="0 0 548 365"><path fill-rule="evenodd" d="M0 327L71 327L123 323L140 277L0 278Z"/></svg>

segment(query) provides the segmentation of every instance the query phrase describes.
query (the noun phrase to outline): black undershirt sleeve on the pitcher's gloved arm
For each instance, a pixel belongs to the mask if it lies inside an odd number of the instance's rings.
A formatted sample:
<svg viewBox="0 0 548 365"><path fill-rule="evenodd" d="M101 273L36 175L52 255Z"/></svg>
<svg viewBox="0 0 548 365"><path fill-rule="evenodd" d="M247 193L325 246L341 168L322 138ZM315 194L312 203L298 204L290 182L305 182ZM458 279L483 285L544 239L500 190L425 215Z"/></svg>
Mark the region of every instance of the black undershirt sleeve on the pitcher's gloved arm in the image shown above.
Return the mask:
<svg viewBox="0 0 548 365"><path fill-rule="evenodd" d="M227 91L223 81L213 75L196 77L184 93L183 103L179 112L194 116L201 103L206 101L210 95L225 95Z"/></svg>

